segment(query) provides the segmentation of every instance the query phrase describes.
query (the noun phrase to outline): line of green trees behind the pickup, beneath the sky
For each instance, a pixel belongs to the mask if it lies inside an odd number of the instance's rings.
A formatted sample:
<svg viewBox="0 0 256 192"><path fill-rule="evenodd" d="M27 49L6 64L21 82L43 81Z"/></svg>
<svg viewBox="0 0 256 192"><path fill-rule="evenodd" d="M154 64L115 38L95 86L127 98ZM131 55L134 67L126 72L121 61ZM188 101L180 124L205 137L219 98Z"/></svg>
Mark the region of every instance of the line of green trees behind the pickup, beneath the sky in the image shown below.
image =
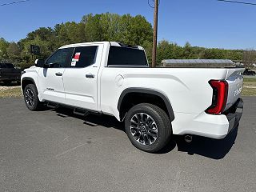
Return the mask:
<svg viewBox="0 0 256 192"><path fill-rule="evenodd" d="M47 58L58 47L78 42L114 41L129 45L140 45L151 61L153 28L142 15L130 14L86 14L81 22L63 22L51 27L40 27L19 42L7 42L0 38L0 62L13 62L25 68L33 65L30 45L40 46L40 58ZM244 50L208 49L174 42L158 42L157 63L166 58L219 58L241 61ZM248 58L248 57L246 57ZM254 58L254 57L253 57Z"/></svg>

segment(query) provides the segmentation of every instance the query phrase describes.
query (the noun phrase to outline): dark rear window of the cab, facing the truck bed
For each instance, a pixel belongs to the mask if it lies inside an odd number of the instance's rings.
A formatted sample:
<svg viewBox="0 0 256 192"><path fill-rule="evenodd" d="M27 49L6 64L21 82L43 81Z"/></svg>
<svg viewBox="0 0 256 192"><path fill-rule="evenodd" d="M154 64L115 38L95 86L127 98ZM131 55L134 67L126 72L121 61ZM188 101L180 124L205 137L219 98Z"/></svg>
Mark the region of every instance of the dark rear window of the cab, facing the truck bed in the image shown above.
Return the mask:
<svg viewBox="0 0 256 192"><path fill-rule="evenodd" d="M147 66L144 50L110 46L108 66Z"/></svg>

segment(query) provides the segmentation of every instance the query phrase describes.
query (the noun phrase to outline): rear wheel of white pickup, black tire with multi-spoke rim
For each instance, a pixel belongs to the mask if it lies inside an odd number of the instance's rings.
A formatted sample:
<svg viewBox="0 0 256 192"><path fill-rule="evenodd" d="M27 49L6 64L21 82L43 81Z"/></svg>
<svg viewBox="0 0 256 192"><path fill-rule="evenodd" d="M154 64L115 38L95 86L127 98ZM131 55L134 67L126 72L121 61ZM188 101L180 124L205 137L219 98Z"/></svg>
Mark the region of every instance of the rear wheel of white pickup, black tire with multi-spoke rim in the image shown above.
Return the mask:
<svg viewBox="0 0 256 192"><path fill-rule="evenodd" d="M139 116L142 122L145 122L144 124L136 120ZM147 119L150 119L151 123L146 123ZM152 121L154 121L154 127ZM166 146L172 134L170 118L166 112L149 103L141 103L130 108L125 118L125 129L130 142L135 147L150 153L158 152ZM154 137L151 137L152 134Z"/></svg>

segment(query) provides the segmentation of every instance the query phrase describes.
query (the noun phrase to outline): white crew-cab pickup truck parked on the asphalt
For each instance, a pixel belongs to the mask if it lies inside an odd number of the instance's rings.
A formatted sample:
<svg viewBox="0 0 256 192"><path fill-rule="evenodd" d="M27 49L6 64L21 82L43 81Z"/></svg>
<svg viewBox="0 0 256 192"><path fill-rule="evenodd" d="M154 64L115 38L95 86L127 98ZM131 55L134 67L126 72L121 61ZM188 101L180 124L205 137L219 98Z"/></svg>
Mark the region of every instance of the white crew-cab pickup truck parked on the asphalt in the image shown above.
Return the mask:
<svg viewBox="0 0 256 192"><path fill-rule="evenodd" d="M125 122L140 150L161 150L173 134L224 138L242 115L243 68L150 68L141 46L62 46L22 72L26 106L67 106Z"/></svg>

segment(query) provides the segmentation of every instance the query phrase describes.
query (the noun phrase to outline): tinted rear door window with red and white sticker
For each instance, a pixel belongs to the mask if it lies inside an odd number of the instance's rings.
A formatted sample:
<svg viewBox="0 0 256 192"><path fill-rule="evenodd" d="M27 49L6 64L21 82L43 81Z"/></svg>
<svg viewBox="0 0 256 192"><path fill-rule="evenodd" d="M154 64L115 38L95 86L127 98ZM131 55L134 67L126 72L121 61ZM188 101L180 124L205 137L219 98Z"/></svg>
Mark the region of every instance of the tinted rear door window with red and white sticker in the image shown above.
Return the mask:
<svg viewBox="0 0 256 192"><path fill-rule="evenodd" d="M74 50L70 67L87 67L96 62L98 46L79 46Z"/></svg>

